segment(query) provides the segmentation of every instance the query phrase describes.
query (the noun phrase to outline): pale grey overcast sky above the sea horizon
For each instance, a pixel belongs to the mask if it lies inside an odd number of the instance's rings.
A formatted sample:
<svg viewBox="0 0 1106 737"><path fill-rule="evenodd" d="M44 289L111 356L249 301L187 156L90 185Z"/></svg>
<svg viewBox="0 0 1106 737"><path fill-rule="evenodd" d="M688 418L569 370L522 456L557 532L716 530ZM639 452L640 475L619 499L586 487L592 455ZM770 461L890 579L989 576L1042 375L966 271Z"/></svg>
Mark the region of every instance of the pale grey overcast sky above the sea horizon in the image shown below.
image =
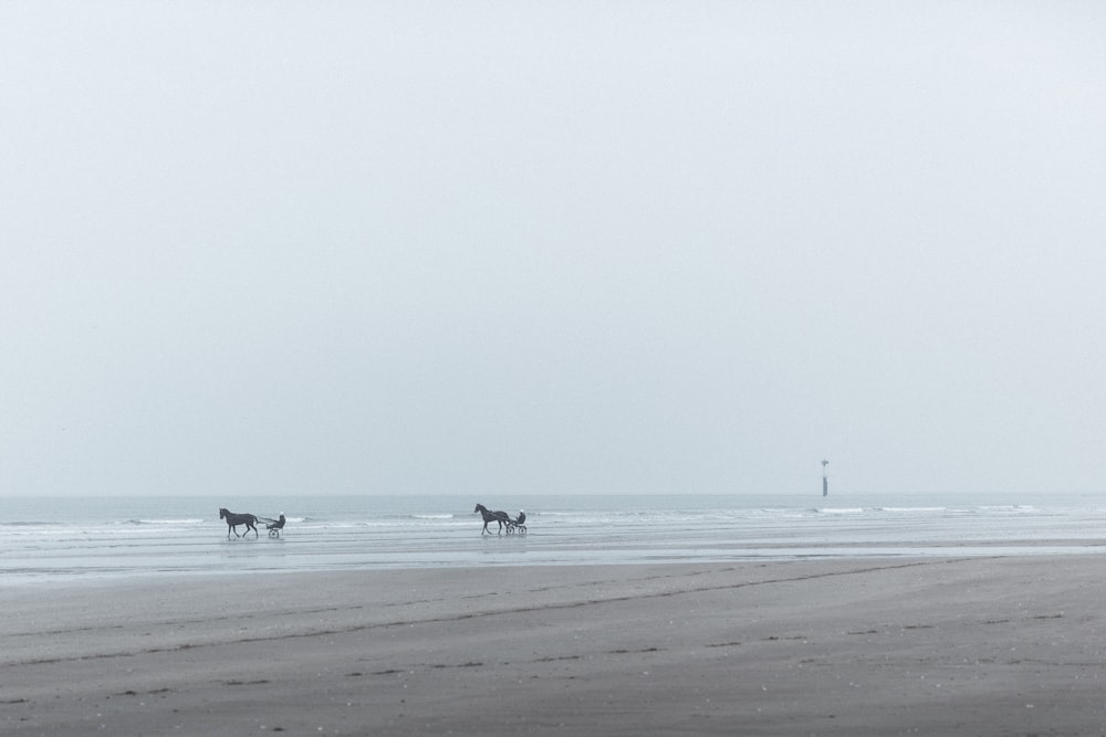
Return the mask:
<svg viewBox="0 0 1106 737"><path fill-rule="evenodd" d="M0 495L1106 486L1099 2L0 4Z"/></svg>

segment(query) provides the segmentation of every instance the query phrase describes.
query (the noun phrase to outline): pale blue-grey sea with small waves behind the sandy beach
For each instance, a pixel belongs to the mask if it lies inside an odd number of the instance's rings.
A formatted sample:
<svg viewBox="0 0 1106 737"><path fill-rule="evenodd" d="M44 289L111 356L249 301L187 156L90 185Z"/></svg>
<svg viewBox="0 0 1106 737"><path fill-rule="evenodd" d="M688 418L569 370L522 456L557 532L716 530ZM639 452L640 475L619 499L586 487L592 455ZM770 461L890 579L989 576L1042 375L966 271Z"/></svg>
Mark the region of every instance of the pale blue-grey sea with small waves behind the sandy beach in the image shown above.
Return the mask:
<svg viewBox="0 0 1106 737"><path fill-rule="evenodd" d="M482 535L477 502L526 535ZM288 523L233 535L219 507ZM492 526L494 530L494 525ZM243 528L239 528L243 531ZM1096 496L0 497L0 585L189 573L1106 552Z"/></svg>

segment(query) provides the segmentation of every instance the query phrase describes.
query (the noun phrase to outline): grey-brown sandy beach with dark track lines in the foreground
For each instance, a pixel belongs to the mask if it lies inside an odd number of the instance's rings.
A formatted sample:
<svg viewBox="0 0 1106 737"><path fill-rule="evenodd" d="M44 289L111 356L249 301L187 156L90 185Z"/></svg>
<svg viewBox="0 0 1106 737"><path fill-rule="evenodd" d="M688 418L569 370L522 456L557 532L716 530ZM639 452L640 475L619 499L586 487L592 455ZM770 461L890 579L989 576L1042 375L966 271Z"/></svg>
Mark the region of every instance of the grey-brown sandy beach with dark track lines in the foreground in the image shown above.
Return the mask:
<svg viewBox="0 0 1106 737"><path fill-rule="evenodd" d="M1098 735L1106 558L2 589L20 735Z"/></svg>

